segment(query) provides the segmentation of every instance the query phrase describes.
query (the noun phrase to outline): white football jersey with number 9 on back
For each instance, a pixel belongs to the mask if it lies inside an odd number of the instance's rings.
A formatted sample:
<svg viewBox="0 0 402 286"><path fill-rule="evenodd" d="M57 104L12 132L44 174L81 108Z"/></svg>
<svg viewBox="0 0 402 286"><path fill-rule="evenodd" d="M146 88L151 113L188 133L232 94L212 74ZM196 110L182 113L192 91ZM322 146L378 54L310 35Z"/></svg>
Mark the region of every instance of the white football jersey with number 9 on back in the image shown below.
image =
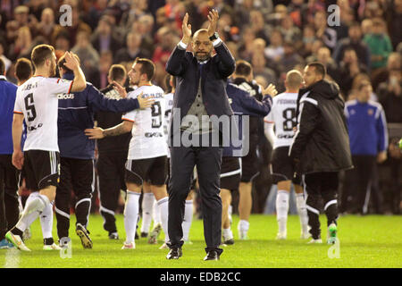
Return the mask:
<svg viewBox="0 0 402 286"><path fill-rule="evenodd" d="M164 136L165 100L163 89L155 86L142 86L128 95L137 98L141 93L143 97L155 98L155 103L147 109L135 109L123 114L121 119L134 122L129 147L129 160L139 160L167 156L166 138Z"/></svg>

